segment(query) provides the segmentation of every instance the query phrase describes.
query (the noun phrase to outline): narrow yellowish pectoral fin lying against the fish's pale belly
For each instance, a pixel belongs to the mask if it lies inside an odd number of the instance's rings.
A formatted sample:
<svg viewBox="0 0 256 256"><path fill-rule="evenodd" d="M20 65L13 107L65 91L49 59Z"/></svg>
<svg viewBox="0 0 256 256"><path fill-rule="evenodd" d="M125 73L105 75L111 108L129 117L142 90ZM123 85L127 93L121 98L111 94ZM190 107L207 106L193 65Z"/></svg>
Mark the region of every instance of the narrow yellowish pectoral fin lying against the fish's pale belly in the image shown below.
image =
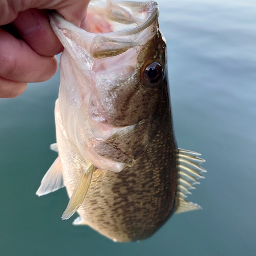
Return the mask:
<svg viewBox="0 0 256 256"><path fill-rule="evenodd" d="M91 184L92 174L95 169L96 167L94 165L88 164L81 170L73 194L69 200L69 204L61 217L63 220L69 219L82 204Z"/></svg>

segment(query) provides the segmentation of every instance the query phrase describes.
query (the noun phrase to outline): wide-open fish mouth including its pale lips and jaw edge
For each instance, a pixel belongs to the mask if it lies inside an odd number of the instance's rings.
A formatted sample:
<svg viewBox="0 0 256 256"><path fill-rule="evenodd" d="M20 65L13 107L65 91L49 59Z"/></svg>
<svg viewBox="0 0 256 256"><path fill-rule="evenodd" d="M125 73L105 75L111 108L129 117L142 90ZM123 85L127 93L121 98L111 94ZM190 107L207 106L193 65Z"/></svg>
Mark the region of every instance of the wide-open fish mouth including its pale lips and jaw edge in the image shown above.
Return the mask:
<svg viewBox="0 0 256 256"><path fill-rule="evenodd" d="M73 41L93 58L100 59L120 55L153 38L158 30L159 7L154 1L92 0L87 10L90 31L68 22L57 12L49 15L63 47L69 48ZM74 53L69 54L75 57Z"/></svg>

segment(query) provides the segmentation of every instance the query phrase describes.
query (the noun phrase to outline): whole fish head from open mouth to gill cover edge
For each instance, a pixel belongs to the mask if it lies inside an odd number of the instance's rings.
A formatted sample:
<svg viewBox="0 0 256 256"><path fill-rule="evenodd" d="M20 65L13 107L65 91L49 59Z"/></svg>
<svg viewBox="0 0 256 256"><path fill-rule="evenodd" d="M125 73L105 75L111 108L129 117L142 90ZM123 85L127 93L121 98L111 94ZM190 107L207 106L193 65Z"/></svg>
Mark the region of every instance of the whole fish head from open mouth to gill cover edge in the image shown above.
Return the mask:
<svg viewBox="0 0 256 256"><path fill-rule="evenodd" d="M132 166L154 134L167 86L158 13L155 2L92 1L89 32L51 14L65 48L59 89L63 133L100 169Z"/></svg>

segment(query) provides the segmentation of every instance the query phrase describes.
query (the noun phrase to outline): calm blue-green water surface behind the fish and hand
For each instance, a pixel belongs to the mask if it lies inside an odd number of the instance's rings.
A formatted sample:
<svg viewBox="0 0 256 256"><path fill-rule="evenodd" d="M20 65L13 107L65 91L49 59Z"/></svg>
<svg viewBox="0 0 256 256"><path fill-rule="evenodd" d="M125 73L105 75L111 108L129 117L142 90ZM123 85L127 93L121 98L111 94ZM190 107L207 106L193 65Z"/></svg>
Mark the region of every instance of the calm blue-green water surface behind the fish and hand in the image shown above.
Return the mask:
<svg viewBox="0 0 256 256"><path fill-rule="evenodd" d="M113 243L61 220L65 189L38 198L57 154L59 73L0 99L0 255L241 256L256 251L256 2L160 0L179 147L200 152L206 178L150 239Z"/></svg>

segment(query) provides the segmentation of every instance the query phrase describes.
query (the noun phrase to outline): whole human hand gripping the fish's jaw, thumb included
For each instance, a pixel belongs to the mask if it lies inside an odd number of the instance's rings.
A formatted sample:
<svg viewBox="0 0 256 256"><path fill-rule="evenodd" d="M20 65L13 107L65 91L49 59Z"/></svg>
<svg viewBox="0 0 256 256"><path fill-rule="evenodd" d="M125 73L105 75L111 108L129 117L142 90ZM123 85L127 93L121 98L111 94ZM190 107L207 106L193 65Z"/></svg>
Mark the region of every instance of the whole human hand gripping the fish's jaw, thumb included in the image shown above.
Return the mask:
<svg viewBox="0 0 256 256"><path fill-rule="evenodd" d="M0 0L0 98L16 97L28 82L46 81L57 70L54 55L62 46L44 9L55 9L69 22L86 28L89 2Z"/></svg>

